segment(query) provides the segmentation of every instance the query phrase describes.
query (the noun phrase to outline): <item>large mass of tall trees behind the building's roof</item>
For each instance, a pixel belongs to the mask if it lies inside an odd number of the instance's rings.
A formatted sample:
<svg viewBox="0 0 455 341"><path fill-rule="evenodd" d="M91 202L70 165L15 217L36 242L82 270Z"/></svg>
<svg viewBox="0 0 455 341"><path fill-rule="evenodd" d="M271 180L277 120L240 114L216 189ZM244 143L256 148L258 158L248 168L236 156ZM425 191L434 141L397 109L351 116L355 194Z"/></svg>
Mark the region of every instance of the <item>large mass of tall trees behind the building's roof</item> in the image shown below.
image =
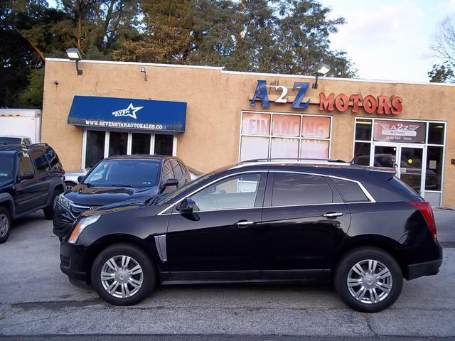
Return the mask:
<svg viewBox="0 0 455 341"><path fill-rule="evenodd" d="M0 107L41 107L45 57L221 66L353 77L330 49L343 18L316 0L0 0Z"/></svg>

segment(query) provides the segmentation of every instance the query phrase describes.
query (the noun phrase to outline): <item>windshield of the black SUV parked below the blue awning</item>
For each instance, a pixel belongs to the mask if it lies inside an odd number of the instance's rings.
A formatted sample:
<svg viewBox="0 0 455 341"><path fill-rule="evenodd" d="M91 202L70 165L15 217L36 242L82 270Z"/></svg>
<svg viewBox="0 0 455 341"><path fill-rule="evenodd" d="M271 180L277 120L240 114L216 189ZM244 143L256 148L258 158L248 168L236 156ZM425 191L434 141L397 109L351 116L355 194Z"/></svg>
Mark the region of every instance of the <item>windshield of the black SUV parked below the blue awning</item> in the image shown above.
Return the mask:
<svg viewBox="0 0 455 341"><path fill-rule="evenodd" d="M99 163L83 181L95 187L144 188L156 185L160 161L107 160Z"/></svg>

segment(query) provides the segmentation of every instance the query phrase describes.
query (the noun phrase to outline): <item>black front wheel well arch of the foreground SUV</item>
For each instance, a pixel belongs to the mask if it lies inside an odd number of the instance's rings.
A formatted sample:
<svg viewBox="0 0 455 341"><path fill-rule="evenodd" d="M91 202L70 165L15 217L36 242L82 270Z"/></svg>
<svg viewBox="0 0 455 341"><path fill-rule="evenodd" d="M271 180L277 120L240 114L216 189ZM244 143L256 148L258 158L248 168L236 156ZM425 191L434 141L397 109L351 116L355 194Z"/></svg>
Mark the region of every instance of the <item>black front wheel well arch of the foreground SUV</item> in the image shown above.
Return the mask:
<svg viewBox="0 0 455 341"><path fill-rule="evenodd" d="M134 237L134 236L129 236L129 235L123 235L123 236L111 236L107 237L106 239L103 239L100 242L96 242L93 244L92 248L88 252L87 259L85 260L85 273L87 274L87 284L90 284L91 282L91 273L92 273L92 264L97 258L98 254L107 247L110 247L111 245L114 244L129 244L132 245L133 247L138 247L144 253L149 256L149 259L151 261L151 264L154 266L155 271L156 271L156 279L159 281L160 278L160 273L158 266L156 266L156 257L151 251L150 247L147 247L147 245L144 244L144 242L141 241L141 239Z"/></svg>

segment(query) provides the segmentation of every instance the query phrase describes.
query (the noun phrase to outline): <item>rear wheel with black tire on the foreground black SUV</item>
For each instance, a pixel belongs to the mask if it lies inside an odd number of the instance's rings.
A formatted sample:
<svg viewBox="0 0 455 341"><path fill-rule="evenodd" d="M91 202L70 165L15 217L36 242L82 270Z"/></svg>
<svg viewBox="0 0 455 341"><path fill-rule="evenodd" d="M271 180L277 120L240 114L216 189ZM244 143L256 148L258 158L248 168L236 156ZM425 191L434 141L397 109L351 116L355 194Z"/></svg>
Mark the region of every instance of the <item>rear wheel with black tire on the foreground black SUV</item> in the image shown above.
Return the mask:
<svg viewBox="0 0 455 341"><path fill-rule="evenodd" d="M370 276L372 273L375 276ZM379 281L378 276L382 276ZM333 285L350 308L376 313L397 301L402 291L403 275L400 265L386 251L362 247L343 256L333 276Z"/></svg>

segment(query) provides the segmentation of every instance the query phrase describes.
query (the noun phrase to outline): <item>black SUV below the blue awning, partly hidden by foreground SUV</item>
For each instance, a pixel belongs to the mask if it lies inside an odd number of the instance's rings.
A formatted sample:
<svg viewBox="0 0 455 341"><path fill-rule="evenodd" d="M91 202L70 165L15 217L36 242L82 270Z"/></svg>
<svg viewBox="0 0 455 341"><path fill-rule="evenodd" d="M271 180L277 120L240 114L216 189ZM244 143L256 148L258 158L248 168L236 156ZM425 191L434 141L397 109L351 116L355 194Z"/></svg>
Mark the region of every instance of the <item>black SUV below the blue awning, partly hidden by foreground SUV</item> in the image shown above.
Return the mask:
<svg viewBox="0 0 455 341"><path fill-rule="evenodd" d="M53 232L60 238L70 232L75 219L86 210L168 193L191 181L191 173L185 163L173 156L111 156L78 180L78 185L55 202Z"/></svg>

